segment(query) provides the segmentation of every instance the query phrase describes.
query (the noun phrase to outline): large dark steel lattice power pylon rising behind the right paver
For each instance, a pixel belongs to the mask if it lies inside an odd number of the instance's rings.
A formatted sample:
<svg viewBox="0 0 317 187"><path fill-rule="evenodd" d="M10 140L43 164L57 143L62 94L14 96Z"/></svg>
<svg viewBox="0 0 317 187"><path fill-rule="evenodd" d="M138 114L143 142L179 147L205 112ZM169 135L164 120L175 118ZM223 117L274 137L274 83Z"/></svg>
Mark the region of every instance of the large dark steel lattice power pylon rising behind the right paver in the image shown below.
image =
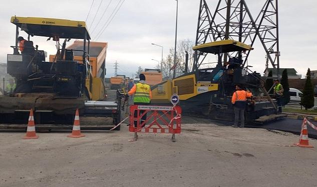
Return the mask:
<svg viewBox="0 0 317 187"><path fill-rule="evenodd" d="M253 19L245 0L219 0L211 13L207 0L200 0L196 45L233 39L250 45L258 38L273 68L277 68L279 76L279 45L278 45L278 11L277 0L265 0L265 3ZM247 62L250 51L232 52L219 55L227 61L229 57L239 57L243 66ZM195 51L193 70L204 64L207 53Z"/></svg>

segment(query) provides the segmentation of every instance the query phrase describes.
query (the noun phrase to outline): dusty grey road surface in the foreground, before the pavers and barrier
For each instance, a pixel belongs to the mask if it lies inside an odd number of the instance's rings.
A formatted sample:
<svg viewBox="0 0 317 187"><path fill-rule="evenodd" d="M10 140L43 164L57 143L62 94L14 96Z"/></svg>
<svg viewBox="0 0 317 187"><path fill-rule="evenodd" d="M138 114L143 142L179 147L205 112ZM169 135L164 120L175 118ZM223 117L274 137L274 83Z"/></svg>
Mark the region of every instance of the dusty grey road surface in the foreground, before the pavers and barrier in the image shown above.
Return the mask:
<svg viewBox="0 0 317 187"><path fill-rule="evenodd" d="M316 148L263 129L184 124L171 134L0 132L1 187L271 187L315 185ZM309 140L317 146L316 140Z"/></svg>

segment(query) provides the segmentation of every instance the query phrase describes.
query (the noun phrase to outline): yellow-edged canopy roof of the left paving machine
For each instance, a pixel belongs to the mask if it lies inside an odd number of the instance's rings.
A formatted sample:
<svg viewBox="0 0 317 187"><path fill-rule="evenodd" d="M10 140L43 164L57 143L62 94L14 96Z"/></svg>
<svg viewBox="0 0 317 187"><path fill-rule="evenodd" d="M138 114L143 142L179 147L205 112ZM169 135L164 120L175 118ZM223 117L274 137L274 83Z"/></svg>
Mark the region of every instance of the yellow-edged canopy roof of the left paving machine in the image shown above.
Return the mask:
<svg viewBox="0 0 317 187"><path fill-rule="evenodd" d="M85 21L45 17L11 17L11 22L30 35L90 40Z"/></svg>

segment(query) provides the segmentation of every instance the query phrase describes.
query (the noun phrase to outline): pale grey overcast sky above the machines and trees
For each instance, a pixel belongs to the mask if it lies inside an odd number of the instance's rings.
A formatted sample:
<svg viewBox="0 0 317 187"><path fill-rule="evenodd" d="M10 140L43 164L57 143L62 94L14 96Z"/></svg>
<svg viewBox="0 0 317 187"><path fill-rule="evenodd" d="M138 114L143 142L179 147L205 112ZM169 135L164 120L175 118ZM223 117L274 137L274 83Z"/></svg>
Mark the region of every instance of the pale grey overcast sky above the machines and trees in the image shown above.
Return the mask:
<svg viewBox="0 0 317 187"><path fill-rule="evenodd" d="M107 11L107 5L111 1ZM100 4L101 2L101 4ZM93 39L100 33L98 41L108 42L106 58L107 77L114 74L113 63L119 63L118 74L131 76L138 66L153 68L160 60L161 48L164 56L174 45L175 0L124 0L121 8L109 23L106 22L119 0L94 0L87 20ZM208 0L213 11L218 0ZM265 0L246 0L255 17ZM16 0L2 1L0 7L0 62L7 61L7 53L12 53L15 26L10 17L52 17L72 20L85 20L92 0ZM99 11L97 12L100 4ZM195 40L199 0L179 0L178 39ZM102 16L103 12L104 16ZM97 14L96 14L97 12ZM96 17L95 17L96 15ZM95 20L93 21L95 17ZM97 25L97 23L99 24ZM106 29L103 26L108 24ZM280 67L295 68L305 74L309 67L317 70L317 2L315 0L279 0ZM33 38L40 49L55 54L55 43L47 38ZM249 57L253 70L263 72L265 53L256 42Z"/></svg>

